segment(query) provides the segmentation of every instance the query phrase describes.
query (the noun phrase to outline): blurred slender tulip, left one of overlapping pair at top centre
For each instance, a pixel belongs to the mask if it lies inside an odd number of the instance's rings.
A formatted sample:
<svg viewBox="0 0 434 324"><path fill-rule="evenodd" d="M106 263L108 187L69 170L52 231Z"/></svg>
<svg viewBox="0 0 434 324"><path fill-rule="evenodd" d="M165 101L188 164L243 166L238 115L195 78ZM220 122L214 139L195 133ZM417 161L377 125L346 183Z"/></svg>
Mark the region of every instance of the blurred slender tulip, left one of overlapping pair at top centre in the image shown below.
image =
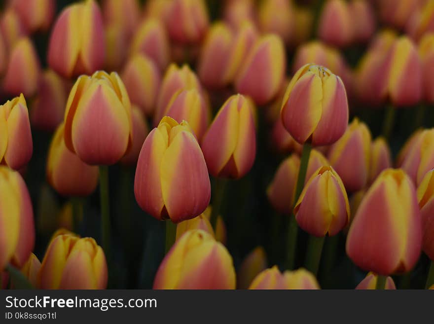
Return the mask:
<svg viewBox="0 0 434 324"><path fill-rule="evenodd" d="M197 73L202 83L210 89L225 85L224 73L232 49L232 31L224 23L215 23L208 31L199 56Z"/></svg>

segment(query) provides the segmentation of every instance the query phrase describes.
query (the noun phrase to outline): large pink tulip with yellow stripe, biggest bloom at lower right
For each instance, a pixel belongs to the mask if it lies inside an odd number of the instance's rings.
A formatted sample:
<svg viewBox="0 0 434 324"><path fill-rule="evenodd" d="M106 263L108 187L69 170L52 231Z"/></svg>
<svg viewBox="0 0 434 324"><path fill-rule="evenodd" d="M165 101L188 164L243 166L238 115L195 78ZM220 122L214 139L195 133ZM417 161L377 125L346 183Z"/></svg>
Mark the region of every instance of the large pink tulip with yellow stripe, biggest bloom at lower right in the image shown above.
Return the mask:
<svg viewBox="0 0 434 324"><path fill-rule="evenodd" d="M353 262L382 276L410 271L422 249L416 189L400 169L383 171L366 192L347 237Z"/></svg>

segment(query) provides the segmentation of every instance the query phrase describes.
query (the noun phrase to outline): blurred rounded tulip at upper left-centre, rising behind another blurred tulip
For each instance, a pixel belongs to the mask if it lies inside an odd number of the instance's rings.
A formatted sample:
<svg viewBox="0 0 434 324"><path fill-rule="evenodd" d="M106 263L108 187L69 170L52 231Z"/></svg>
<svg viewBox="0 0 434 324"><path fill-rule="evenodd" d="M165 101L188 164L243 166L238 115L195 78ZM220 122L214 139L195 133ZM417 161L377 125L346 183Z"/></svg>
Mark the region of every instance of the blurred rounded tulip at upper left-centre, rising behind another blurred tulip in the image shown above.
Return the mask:
<svg viewBox="0 0 434 324"><path fill-rule="evenodd" d="M145 19L131 41L131 54L142 53L151 58L160 70L169 63L169 39L158 19Z"/></svg>

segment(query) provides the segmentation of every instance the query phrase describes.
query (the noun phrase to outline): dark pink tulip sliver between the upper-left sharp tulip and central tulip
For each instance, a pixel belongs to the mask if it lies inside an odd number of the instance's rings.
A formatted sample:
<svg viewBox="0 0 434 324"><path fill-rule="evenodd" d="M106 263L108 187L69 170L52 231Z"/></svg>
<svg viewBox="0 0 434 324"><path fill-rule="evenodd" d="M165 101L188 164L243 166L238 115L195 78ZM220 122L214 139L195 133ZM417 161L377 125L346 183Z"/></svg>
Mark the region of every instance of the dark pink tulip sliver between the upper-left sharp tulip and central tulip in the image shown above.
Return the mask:
<svg viewBox="0 0 434 324"><path fill-rule="evenodd" d="M140 150L145 142L146 136L149 134L149 127L143 116L142 110L136 106L131 106L131 116L133 118L133 144L131 149L120 160L124 165L136 165L139 158Z"/></svg>

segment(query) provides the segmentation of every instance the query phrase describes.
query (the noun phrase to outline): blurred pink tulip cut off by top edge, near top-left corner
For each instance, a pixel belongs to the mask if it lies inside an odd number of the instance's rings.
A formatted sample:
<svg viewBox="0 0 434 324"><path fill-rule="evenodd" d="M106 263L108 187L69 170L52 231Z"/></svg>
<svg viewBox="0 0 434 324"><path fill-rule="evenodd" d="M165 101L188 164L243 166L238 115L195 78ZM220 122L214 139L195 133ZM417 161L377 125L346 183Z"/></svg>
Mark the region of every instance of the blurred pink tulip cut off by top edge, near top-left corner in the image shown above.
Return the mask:
<svg viewBox="0 0 434 324"><path fill-rule="evenodd" d="M47 31L56 11L54 0L12 0L10 5L16 10L29 33Z"/></svg>

